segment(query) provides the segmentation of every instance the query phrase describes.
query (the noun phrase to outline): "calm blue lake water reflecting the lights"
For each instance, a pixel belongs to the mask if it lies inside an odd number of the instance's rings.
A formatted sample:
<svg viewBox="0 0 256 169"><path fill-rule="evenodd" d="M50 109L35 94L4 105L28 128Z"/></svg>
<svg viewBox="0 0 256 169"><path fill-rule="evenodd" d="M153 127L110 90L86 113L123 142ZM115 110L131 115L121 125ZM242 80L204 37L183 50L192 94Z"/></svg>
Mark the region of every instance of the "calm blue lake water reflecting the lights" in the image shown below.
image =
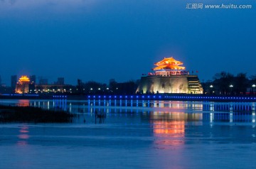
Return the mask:
<svg viewBox="0 0 256 169"><path fill-rule="evenodd" d="M0 124L0 168L255 168L255 103L0 100L70 124ZM95 118L95 111L106 115Z"/></svg>

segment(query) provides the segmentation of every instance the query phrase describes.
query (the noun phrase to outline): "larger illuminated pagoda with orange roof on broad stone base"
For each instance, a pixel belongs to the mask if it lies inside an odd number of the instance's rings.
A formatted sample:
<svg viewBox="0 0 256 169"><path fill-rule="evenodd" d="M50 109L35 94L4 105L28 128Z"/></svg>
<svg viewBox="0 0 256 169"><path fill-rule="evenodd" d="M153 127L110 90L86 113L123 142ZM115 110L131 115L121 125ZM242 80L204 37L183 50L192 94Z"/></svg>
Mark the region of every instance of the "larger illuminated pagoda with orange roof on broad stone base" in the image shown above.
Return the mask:
<svg viewBox="0 0 256 169"><path fill-rule="evenodd" d="M152 70L141 78L137 93L202 94L203 88L197 75L189 75L183 62L173 57L156 62Z"/></svg>

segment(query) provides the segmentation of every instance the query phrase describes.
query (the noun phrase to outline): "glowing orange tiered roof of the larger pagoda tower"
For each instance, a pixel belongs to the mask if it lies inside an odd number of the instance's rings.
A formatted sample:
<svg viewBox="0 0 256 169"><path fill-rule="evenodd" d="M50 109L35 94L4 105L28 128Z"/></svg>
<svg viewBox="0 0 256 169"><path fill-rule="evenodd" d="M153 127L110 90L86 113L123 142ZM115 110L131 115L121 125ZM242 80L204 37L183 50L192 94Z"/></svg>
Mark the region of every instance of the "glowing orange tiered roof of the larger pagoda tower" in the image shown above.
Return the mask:
<svg viewBox="0 0 256 169"><path fill-rule="evenodd" d="M164 60L161 60L159 62L156 62L154 65L157 67L154 67L153 70L185 70L185 67L179 66L183 65L183 62L180 62L178 60L175 60L174 58L164 58Z"/></svg>

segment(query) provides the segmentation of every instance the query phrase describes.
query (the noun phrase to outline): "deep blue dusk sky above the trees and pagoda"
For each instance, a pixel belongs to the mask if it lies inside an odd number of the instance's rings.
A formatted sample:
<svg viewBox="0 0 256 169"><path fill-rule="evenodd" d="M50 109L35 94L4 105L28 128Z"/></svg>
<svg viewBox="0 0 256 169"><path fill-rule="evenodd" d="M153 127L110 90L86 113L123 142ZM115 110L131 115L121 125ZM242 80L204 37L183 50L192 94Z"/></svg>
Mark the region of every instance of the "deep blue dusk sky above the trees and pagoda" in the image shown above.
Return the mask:
<svg viewBox="0 0 256 169"><path fill-rule="evenodd" d="M186 9L186 3L252 9ZM0 75L137 80L174 56L200 80L256 75L256 1L0 0Z"/></svg>

